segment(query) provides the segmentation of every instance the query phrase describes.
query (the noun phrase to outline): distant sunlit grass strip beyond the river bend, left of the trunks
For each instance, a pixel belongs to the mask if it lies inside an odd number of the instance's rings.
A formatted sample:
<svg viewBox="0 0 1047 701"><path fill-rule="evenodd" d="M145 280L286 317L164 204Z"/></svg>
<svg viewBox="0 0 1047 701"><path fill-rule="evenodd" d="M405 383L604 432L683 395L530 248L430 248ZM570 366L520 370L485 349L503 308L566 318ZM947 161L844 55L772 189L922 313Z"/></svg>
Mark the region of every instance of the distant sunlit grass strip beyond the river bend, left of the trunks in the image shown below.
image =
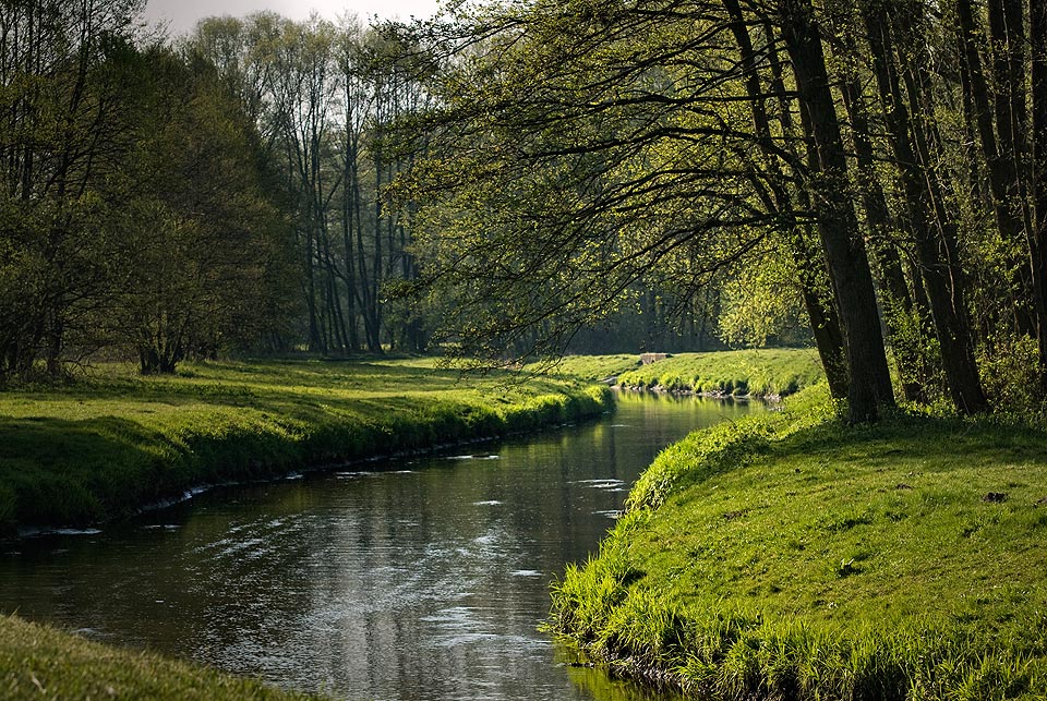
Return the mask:
<svg viewBox="0 0 1047 701"><path fill-rule="evenodd" d="M623 387L661 388L710 395L785 396L823 377L814 349L767 348L681 353L618 375Z"/></svg>

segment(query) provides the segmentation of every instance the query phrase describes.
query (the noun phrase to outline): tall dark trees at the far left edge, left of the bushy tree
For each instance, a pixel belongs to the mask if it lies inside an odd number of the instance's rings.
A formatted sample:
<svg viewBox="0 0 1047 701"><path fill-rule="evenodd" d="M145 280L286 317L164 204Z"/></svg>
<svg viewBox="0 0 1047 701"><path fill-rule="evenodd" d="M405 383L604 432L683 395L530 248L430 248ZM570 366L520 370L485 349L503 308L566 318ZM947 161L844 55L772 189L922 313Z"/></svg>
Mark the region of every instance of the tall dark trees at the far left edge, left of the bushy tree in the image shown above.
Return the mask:
<svg viewBox="0 0 1047 701"><path fill-rule="evenodd" d="M109 289L113 193L133 0L0 2L0 378L96 342Z"/></svg>

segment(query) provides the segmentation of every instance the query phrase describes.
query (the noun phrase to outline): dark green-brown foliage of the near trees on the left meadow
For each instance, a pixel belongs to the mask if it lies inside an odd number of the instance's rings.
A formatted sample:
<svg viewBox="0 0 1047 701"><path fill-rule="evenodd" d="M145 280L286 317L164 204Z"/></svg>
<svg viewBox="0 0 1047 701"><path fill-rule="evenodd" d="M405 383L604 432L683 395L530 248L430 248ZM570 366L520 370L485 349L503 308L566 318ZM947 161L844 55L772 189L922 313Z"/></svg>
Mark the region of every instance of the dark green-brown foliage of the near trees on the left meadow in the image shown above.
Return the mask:
<svg viewBox="0 0 1047 701"><path fill-rule="evenodd" d="M170 372L286 322L257 125L212 67L136 44L141 9L0 4L0 380L113 347Z"/></svg>

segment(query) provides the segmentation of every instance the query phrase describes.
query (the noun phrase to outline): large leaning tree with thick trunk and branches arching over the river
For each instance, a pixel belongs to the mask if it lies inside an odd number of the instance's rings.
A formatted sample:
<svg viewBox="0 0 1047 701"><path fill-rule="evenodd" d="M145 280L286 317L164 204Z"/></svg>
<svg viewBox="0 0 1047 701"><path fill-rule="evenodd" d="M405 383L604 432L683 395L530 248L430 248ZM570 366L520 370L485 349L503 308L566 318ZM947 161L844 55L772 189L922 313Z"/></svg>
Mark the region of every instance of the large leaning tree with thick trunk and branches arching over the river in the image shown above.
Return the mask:
<svg viewBox="0 0 1047 701"><path fill-rule="evenodd" d="M770 27L768 45L783 43L791 59L791 95L814 136L798 149L781 123L771 130L763 102L786 97L768 87L784 81L770 51L756 65L749 25ZM444 150L420 171L420 189L438 203L422 213L436 232L431 279L483 306L479 316L459 307L465 348L497 352L533 327L555 348L635 281L657 273L694 295L774 235L804 263L813 326L831 328L839 312L843 334L823 358L846 340L852 419L893 402L809 5L745 17L733 2L535 2L449 34L481 39L445 83L432 122ZM814 256L797 235L805 226L819 232Z"/></svg>

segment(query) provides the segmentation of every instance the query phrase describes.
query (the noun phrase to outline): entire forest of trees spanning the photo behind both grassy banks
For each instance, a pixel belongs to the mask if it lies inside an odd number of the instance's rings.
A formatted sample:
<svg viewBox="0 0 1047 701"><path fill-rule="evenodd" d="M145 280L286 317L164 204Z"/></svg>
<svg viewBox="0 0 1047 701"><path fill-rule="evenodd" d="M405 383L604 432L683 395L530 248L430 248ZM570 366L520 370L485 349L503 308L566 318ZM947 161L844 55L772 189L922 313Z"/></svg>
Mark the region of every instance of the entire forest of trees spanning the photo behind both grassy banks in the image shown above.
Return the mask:
<svg viewBox="0 0 1047 701"><path fill-rule="evenodd" d="M168 37L0 3L0 378L817 347L1039 408L1043 0L529 0Z"/></svg>

